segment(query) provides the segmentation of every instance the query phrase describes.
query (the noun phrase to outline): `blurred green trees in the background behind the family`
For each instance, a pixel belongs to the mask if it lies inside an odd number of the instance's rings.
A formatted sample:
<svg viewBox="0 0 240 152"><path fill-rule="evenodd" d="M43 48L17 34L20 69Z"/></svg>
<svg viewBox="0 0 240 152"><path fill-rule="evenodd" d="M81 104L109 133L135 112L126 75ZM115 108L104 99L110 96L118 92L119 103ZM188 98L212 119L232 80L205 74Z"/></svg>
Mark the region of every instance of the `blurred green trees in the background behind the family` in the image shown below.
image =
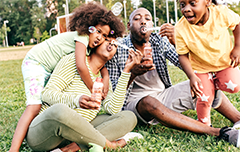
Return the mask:
<svg viewBox="0 0 240 152"><path fill-rule="evenodd" d="M96 0L100 2L100 0ZM116 3L123 4L124 0L102 0L103 5L108 9ZM132 3L131 3L132 2ZM85 3L85 0L68 0L69 13L74 8ZM7 36L9 45L16 45L17 42L30 43L30 39L35 39L35 43L48 38L49 30L56 24L58 16L65 15L66 0L1 0L0 1L0 45L4 40L4 21L7 23ZM167 22L166 0L156 0L155 2L156 16L158 18L157 25ZM153 15L153 1L141 0L138 4L137 0L126 0L126 16L127 20L130 13L136 7L145 7ZM168 1L169 19L175 21L174 1ZM179 7L179 6L178 6ZM229 5L230 9L240 14L240 3ZM178 19L182 16L178 9ZM153 15L154 16L154 15ZM124 9L119 15L125 22ZM46 31L44 33L44 31ZM44 33L44 35L43 35ZM57 34L56 31L52 35ZM42 38L41 38L42 36Z"/></svg>

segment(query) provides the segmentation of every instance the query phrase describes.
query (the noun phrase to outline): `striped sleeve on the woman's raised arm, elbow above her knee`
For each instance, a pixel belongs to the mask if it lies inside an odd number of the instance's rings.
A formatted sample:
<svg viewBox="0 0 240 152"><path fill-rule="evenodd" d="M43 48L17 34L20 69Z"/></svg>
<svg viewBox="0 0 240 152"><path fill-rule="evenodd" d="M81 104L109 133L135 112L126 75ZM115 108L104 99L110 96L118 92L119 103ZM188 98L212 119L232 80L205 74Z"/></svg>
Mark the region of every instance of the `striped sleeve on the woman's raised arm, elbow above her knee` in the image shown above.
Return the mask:
<svg viewBox="0 0 240 152"><path fill-rule="evenodd" d="M122 72L115 91L112 91L111 83L109 84L109 91L106 99L103 101L103 107L109 114L116 114L121 111L125 95L126 88L129 81L131 73Z"/></svg>

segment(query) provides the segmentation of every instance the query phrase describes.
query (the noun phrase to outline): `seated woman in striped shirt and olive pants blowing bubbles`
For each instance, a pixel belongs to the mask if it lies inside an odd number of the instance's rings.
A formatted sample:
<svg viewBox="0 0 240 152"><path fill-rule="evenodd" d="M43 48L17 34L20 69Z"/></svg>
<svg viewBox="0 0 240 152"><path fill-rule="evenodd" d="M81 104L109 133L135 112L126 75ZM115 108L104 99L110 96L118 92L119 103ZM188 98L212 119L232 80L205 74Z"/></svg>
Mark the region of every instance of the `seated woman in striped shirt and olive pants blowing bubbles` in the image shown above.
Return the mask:
<svg viewBox="0 0 240 152"><path fill-rule="evenodd" d="M93 81L101 77L100 69L116 53L117 46L112 40L106 39L86 57ZM107 114L97 116L99 108L77 72L74 53L64 56L42 92L41 113L32 121L26 136L29 146L34 151L48 151L65 140L91 145L93 151L125 146L124 139L115 140L131 131L137 123L132 112L121 112L121 108L130 70L141 59L139 51L129 50L129 58L115 91L109 83L108 95L102 101Z"/></svg>

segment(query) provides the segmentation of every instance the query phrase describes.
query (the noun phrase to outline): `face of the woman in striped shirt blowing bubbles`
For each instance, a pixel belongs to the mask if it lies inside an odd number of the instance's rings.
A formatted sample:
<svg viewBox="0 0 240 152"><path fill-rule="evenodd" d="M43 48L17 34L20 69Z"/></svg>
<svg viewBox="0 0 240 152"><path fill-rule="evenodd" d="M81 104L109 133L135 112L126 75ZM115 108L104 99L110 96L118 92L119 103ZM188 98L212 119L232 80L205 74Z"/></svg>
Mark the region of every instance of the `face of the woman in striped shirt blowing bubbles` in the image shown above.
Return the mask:
<svg viewBox="0 0 240 152"><path fill-rule="evenodd" d="M106 38L106 40L98 46L96 53L108 61L112 59L114 54L117 52L117 45L113 42L116 41L114 38Z"/></svg>

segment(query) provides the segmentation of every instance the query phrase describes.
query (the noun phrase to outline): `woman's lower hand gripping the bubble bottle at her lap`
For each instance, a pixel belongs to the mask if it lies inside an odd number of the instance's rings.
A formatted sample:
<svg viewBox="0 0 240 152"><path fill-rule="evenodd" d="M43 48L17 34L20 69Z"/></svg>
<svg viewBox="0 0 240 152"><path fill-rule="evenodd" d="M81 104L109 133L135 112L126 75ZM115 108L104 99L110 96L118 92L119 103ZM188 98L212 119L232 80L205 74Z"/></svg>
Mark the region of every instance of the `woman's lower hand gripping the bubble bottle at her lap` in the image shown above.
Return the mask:
<svg viewBox="0 0 240 152"><path fill-rule="evenodd" d="M92 109L92 110L99 109L99 103L97 101L94 101L93 98L86 95L82 95L79 98L79 106L83 109Z"/></svg>

